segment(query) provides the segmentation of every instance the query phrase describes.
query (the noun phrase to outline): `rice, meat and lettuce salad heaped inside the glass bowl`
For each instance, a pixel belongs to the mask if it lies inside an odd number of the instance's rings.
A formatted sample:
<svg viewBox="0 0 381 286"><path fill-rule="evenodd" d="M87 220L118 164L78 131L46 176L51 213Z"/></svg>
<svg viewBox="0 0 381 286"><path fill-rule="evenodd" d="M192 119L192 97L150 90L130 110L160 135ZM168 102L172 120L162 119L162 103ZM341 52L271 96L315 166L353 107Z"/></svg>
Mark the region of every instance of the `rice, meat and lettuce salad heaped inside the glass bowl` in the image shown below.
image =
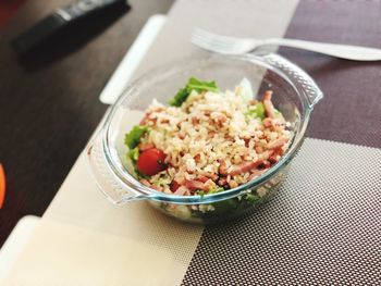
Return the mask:
<svg viewBox="0 0 381 286"><path fill-rule="evenodd" d="M177 196L221 192L255 179L281 159L292 139L271 97L271 90L255 97L246 78L234 91L223 91L214 82L193 77L169 105L153 99L125 135L135 177Z"/></svg>

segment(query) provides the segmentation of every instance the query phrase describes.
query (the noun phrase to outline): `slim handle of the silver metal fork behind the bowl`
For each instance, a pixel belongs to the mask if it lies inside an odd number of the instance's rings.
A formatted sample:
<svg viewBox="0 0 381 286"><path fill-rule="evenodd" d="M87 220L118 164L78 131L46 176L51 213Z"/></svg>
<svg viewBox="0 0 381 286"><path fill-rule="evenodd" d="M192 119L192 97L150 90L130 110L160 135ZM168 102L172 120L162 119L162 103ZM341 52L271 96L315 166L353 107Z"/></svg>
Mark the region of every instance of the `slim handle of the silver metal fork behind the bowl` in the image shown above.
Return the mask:
<svg viewBox="0 0 381 286"><path fill-rule="evenodd" d="M341 59L353 60L353 61L380 61L381 60L381 49L365 48L365 47L358 47L358 46L336 45L336 43L325 43L325 42L282 39L282 38L266 39L261 41L259 46L291 47L296 49L320 52L320 53L333 55Z"/></svg>

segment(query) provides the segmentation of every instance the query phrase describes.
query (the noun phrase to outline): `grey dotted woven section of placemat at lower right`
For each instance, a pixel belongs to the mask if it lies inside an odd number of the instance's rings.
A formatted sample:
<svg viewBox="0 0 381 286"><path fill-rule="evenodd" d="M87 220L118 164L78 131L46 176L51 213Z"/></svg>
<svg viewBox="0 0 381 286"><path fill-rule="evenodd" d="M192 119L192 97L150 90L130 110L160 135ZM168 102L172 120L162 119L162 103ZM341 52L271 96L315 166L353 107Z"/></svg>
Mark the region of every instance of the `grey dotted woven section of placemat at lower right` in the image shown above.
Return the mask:
<svg viewBox="0 0 381 286"><path fill-rule="evenodd" d="M381 150L306 139L258 212L205 228L184 285L381 285Z"/></svg>

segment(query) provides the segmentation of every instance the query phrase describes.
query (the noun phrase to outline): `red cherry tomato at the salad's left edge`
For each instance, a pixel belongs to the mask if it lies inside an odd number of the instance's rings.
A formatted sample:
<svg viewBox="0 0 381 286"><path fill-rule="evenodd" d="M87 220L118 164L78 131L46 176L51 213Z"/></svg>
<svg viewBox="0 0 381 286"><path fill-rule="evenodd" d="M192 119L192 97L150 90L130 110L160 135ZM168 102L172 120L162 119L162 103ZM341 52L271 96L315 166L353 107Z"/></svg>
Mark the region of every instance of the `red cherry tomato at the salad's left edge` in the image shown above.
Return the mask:
<svg viewBox="0 0 381 286"><path fill-rule="evenodd" d="M137 170L146 176L152 176L167 169L165 154L157 149L150 148L143 151L137 159Z"/></svg>

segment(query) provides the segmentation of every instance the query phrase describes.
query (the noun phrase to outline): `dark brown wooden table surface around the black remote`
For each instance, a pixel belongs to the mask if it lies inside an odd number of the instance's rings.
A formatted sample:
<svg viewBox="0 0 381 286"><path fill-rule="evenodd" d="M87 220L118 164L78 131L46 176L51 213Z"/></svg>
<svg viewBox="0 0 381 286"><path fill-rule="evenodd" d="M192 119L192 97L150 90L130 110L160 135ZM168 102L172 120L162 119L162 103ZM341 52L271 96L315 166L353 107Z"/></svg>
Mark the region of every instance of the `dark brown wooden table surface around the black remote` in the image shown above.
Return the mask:
<svg viewBox="0 0 381 286"><path fill-rule="evenodd" d="M0 30L0 162L7 196L0 246L24 215L41 215L107 107L98 96L147 18L173 0L130 1L17 59L9 41L70 0L28 0Z"/></svg>

